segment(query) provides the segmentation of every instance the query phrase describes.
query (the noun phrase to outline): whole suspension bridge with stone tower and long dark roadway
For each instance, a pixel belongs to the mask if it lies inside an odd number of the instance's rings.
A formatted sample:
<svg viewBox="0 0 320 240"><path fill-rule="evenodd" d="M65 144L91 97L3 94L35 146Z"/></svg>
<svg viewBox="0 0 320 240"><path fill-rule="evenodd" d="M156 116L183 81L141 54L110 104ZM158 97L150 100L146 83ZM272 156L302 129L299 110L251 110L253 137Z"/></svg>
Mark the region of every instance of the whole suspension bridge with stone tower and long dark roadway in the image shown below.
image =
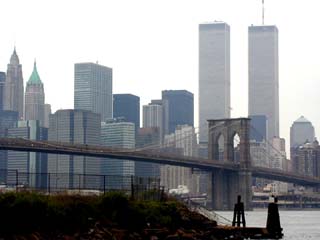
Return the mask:
<svg viewBox="0 0 320 240"><path fill-rule="evenodd" d="M51 141L32 141L22 138L0 138L1 150L43 152L52 154L81 155L108 159L123 159L139 162L167 164L205 170L211 174L212 207L231 209L234 199L241 195L250 208L252 201L252 177L264 178L300 186L320 187L320 179L277 169L253 166L250 159L250 119L209 120L208 158L187 157L165 153L157 149L117 149L104 146L70 144ZM233 138L240 137L239 160L233 154ZM219 155L219 137L224 136L223 159Z"/></svg>

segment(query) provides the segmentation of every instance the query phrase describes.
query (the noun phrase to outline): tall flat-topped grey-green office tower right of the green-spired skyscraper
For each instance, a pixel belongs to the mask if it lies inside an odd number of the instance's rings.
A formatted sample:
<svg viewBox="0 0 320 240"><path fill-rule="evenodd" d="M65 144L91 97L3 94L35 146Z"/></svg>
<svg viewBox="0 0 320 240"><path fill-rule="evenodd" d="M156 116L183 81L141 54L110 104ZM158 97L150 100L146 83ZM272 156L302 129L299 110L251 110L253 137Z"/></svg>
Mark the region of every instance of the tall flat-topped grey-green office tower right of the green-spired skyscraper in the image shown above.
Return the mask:
<svg viewBox="0 0 320 240"><path fill-rule="evenodd" d="M74 65L74 108L112 118L112 69L95 63Z"/></svg>

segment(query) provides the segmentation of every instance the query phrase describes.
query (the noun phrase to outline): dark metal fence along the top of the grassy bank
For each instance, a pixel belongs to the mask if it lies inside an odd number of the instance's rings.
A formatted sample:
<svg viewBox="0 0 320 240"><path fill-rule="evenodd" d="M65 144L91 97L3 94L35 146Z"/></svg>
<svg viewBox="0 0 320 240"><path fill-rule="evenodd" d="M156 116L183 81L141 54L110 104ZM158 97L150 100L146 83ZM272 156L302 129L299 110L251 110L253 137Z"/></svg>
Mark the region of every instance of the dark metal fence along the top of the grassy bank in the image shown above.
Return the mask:
<svg viewBox="0 0 320 240"><path fill-rule="evenodd" d="M160 179L154 177L30 173L0 169L0 192L6 191L38 191L47 194L64 192L83 195L121 191L135 199L161 200L163 198Z"/></svg>

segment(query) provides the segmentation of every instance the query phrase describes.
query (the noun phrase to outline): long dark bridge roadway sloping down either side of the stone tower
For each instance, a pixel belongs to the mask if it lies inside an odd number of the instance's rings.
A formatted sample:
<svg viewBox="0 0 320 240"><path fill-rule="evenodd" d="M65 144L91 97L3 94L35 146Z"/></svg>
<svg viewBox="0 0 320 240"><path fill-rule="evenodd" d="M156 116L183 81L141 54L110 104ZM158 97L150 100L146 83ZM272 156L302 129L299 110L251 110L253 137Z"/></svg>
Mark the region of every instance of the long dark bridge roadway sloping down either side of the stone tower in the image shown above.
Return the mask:
<svg viewBox="0 0 320 240"><path fill-rule="evenodd" d="M179 156L160 152L159 149L120 149L86 144L70 144L51 141L32 141L22 138L0 138L0 150L15 150L26 152L43 152L52 154L81 155L99 158L124 159L140 162L168 164L173 166L198 168L206 171L226 170L239 171L236 163L204 158ZM288 173L282 170L252 166L250 169L253 177L265 178L276 181L295 183L302 186L320 187L320 179Z"/></svg>

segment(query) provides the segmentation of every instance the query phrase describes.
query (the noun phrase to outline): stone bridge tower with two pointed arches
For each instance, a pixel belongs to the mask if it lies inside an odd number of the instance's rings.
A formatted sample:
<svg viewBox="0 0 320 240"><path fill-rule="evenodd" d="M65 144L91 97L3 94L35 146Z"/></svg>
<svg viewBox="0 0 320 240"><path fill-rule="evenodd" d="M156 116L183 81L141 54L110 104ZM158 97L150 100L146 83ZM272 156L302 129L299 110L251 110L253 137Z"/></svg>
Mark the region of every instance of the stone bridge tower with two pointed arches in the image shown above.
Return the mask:
<svg viewBox="0 0 320 240"><path fill-rule="evenodd" d="M237 195L241 195L245 208L251 209L250 119L218 119L208 120L208 123L209 159L239 167L239 171L220 169L212 172L212 207L233 209ZM237 151L234 149L235 136L240 138Z"/></svg>

